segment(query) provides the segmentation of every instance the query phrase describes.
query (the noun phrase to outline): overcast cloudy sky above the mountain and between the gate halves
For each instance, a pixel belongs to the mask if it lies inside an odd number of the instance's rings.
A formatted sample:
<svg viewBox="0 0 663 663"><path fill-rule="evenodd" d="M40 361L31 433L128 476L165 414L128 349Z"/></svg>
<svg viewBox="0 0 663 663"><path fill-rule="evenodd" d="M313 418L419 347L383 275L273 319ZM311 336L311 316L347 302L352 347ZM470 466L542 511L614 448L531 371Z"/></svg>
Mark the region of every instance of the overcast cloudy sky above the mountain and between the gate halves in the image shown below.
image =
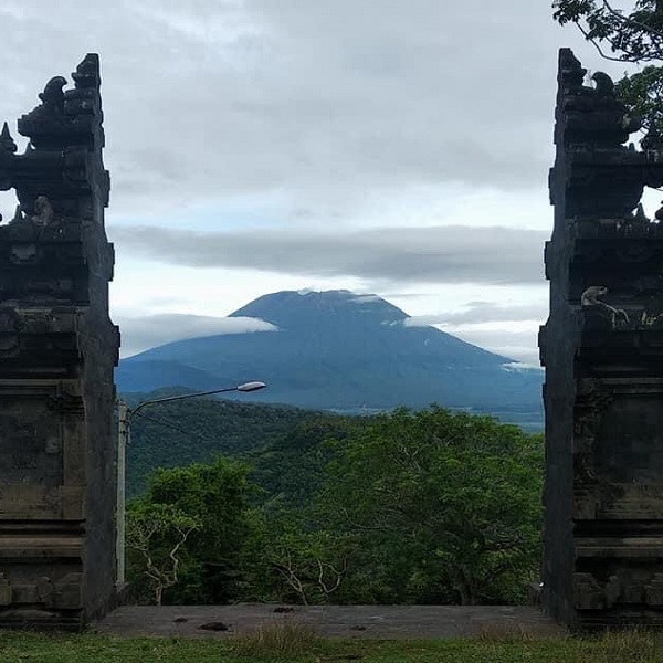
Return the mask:
<svg viewBox="0 0 663 663"><path fill-rule="evenodd" d="M491 9L493 8L493 9ZM548 0L2 0L0 120L102 59L123 354L252 332L278 290L377 293L537 362L557 51ZM11 218L13 193L0 194ZM417 322L419 320L419 322Z"/></svg>

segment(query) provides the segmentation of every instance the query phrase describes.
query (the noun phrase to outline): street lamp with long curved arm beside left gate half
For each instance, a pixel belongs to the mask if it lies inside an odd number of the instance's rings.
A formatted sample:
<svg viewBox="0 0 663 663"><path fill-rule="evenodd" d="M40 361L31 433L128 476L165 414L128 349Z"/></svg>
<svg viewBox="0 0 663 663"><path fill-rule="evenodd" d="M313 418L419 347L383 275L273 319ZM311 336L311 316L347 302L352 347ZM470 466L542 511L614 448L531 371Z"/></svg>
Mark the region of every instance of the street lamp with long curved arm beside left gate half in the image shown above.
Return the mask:
<svg viewBox="0 0 663 663"><path fill-rule="evenodd" d="M175 400L183 400L186 398L196 398L198 396L212 396L213 393L227 393L229 391L240 391L246 393L250 391L259 391L264 389L264 382L244 382L236 387L225 387L224 389L211 389L209 391L198 391L196 393L182 393L180 396L169 396L167 398L156 398L138 403L134 409L120 399L117 401L117 537L115 555L117 558L117 585L122 586L125 582L125 491L126 491L126 449L131 435L131 419L143 408L154 406L156 403L167 403Z"/></svg>

